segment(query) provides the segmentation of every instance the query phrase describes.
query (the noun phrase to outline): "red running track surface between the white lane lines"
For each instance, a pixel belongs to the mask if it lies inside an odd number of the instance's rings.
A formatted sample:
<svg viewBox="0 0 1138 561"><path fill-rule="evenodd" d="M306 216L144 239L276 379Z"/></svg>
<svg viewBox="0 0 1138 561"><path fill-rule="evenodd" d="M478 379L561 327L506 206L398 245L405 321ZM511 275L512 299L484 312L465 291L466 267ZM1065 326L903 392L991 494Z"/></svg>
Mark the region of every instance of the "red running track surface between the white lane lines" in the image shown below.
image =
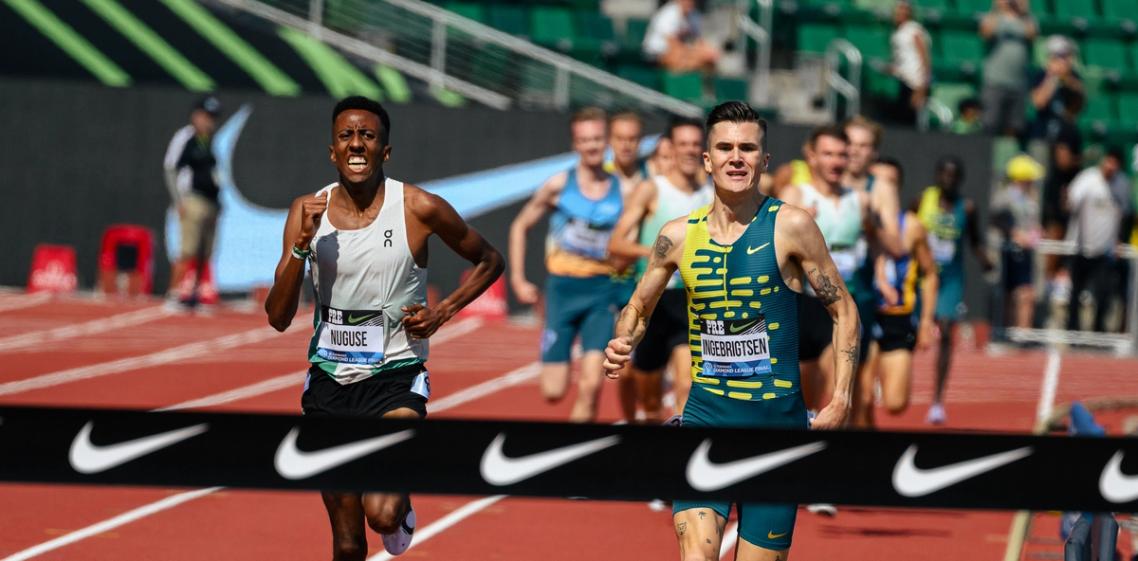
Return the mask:
<svg viewBox="0 0 1138 561"><path fill-rule="evenodd" d="M57 299L10 308L18 295L0 295L0 333L43 331L43 340L5 348L0 339L0 403L157 409L212 396L305 368L310 331L304 312L284 335L261 338L267 329L259 312L220 310L212 316L175 314L135 327L94 329L60 336L60 327L82 324L155 303L100 303ZM98 324L97 324L98 327ZM467 327L470 327L467 324ZM487 329L489 328L489 329ZM30 390L5 393L3 383L67 369L91 366L224 336L253 332L261 340L217 352L190 353L137 369ZM49 335L55 333L55 335ZM53 339L55 337L55 339ZM58 338L63 337L63 338ZM456 335L431 348L432 403L516 369L537 357L538 330L495 323ZM192 350L192 348L191 348ZM1032 426L1044 370L1042 353L989 357L974 348L956 355L949 382L949 428L1026 431ZM1104 395L1138 395L1138 380L1120 379L1138 362L1066 355L1057 402ZM84 371L90 371L85 369ZM925 429L923 415L932 388L932 356L916 361L914 405L900 418L880 415L889 428ZM269 393L214 405L212 410L296 413L300 379ZM571 398L571 396L570 396ZM535 380L442 411L439 418L560 420L569 402L546 405ZM618 419L616 388L602 398L601 421ZM835 470L841 467L835 465ZM0 561L28 547L107 520L185 489L0 485L3 527ZM419 536L442 517L478 497L417 496ZM800 560L1001 559L1011 523L1008 512L901 511L844 508L838 518L800 512L792 558ZM1045 518L1045 517L1038 517ZM1057 522L1039 520L1037 536L1054 536ZM643 503L504 498L477 510L420 542L406 559L674 559L670 513ZM1121 542L1127 542L1122 539ZM382 552L370 537L371 554ZM1053 548L1054 550L1054 548ZM34 559L327 559L328 521L312 493L223 489L152 513L108 531L46 552Z"/></svg>

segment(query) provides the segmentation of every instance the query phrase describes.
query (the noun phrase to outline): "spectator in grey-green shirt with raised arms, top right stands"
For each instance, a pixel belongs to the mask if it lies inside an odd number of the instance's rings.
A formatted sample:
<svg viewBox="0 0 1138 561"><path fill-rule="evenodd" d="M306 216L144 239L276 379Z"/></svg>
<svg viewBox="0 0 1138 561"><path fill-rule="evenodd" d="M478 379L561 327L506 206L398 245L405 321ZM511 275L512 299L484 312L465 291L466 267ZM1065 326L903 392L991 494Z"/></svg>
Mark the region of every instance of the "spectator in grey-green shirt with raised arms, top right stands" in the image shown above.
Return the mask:
<svg viewBox="0 0 1138 561"><path fill-rule="evenodd" d="M1024 127L1028 63L1039 27L1026 0L995 0L980 20L980 36L988 42L982 92L984 129L990 134L1019 137Z"/></svg>

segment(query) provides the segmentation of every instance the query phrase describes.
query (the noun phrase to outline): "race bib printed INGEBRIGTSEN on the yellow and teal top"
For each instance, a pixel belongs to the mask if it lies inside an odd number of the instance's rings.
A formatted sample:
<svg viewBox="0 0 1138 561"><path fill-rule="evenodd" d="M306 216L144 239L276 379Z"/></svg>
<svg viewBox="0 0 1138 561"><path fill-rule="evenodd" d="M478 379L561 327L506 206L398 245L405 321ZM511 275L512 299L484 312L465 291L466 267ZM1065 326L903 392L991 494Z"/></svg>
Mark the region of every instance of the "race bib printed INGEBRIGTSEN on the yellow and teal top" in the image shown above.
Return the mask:
<svg viewBox="0 0 1138 561"><path fill-rule="evenodd" d="M700 321L703 376L744 378L770 373L766 317Z"/></svg>

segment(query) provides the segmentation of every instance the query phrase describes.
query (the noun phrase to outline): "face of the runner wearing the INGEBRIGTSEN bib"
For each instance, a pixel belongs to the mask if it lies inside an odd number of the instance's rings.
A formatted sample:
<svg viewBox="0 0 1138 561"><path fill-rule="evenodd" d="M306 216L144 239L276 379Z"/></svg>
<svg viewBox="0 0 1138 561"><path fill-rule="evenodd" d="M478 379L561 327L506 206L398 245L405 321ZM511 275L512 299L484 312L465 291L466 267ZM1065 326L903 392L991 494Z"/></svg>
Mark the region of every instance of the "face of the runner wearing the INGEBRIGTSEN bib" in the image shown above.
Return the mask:
<svg viewBox="0 0 1138 561"><path fill-rule="evenodd" d="M708 132L703 170L716 189L741 193L759 184L769 156L762 152L762 130L758 123L720 121Z"/></svg>

